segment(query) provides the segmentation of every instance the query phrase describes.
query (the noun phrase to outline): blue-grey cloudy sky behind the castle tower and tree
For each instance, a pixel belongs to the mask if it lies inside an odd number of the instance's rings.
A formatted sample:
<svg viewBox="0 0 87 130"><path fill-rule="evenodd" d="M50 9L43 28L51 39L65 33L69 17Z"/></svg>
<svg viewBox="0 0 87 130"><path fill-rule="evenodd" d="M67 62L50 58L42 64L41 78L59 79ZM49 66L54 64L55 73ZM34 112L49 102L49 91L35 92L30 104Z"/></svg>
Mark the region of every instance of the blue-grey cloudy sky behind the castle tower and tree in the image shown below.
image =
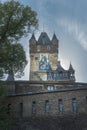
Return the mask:
<svg viewBox="0 0 87 130"><path fill-rule="evenodd" d="M1 0L7 1L7 0ZM59 39L59 60L65 69L70 62L75 69L76 81L87 82L87 0L19 0L38 14L39 28L36 39L44 31L50 39L55 32ZM28 61L28 37L22 38ZM29 63L22 80L29 79Z"/></svg>

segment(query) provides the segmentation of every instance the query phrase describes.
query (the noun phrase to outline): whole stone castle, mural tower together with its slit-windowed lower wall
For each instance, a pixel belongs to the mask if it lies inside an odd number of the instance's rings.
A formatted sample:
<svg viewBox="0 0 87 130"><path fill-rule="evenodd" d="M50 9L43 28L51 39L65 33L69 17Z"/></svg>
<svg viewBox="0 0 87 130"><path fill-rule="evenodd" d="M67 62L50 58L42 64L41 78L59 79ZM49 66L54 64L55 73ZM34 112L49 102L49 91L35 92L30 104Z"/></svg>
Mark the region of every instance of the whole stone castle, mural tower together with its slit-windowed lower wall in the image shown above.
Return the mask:
<svg viewBox="0 0 87 130"><path fill-rule="evenodd" d="M59 40L42 32L29 41L30 80L7 81L8 113L17 117L87 114L87 83L75 81L70 63L65 70L58 58Z"/></svg>

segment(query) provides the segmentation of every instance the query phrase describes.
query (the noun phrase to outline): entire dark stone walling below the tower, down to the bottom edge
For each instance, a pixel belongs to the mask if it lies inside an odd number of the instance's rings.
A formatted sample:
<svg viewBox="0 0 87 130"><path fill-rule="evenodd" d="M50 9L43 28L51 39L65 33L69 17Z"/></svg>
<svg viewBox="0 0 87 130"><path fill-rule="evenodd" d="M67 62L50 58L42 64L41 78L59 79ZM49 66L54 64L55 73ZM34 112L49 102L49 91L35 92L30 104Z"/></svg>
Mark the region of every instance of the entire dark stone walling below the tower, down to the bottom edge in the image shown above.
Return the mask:
<svg viewBox="0 0 87 130"><path fill-rule="evenodd" d="M87 84L18 81L6 85L9 130L87 130Z"/></svg>

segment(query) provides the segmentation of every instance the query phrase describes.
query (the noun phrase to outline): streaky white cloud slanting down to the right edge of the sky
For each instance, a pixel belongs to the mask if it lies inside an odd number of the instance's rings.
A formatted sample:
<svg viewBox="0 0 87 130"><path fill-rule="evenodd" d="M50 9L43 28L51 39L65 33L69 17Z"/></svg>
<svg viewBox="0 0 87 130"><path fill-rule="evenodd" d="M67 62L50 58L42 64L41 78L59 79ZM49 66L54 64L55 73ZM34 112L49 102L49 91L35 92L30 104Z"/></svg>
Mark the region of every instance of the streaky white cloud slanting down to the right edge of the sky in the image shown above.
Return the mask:
<svg viewBox="0 0 87 130"><path fill-rule="evenodd" d="M72 35L72 37L80 43L80 45L87 50L87 32L86 27L81 25L76 21L70 19L62 18L58 20L58 24L62 26L67 33Z"/></svg>

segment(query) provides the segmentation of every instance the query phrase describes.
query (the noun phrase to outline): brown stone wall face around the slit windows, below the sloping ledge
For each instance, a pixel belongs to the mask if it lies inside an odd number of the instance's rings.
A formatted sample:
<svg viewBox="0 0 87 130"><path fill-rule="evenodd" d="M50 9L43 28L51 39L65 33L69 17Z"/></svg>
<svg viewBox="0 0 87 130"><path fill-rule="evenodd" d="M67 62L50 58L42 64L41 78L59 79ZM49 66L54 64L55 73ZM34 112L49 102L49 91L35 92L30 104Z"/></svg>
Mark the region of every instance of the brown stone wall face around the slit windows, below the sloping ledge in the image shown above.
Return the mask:
<svg viewBox="0 0 87 130"><path fill-rule="evenodd" d="M72 110L72 98L76 98L78 111ZM73 115L79 113L87 113L87 91L62 91L62 92L46 92L33 93L19 96L10 96L7 101L11 104L11 110L14 115L20 116L20 103L23 103L23 117L29 116L61 116ZM63 112L58 110L58 100L63 101ZM49 101L49 112L45 112L45 101ZM32 114L32 102L36 102L36 111Z"/></svg>

